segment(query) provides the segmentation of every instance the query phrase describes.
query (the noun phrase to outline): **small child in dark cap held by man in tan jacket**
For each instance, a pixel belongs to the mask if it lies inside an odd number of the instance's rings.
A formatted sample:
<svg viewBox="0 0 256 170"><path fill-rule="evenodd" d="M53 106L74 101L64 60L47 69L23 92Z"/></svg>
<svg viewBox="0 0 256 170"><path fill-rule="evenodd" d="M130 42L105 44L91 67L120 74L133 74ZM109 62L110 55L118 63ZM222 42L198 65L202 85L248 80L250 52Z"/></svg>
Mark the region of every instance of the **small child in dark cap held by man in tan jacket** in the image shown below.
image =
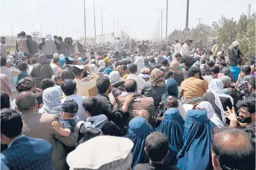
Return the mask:
<svg viewBox="0 0 256 170"><path fill-rule="evenodd" d="M75 117L76 113L78 113L78 103L73 99L65 100L62 104L62 118L61 124L64 128L61 128L57 121L52 122L53 129L61 134L62 136L69 136L73 129L75 128Z"/></svg>

